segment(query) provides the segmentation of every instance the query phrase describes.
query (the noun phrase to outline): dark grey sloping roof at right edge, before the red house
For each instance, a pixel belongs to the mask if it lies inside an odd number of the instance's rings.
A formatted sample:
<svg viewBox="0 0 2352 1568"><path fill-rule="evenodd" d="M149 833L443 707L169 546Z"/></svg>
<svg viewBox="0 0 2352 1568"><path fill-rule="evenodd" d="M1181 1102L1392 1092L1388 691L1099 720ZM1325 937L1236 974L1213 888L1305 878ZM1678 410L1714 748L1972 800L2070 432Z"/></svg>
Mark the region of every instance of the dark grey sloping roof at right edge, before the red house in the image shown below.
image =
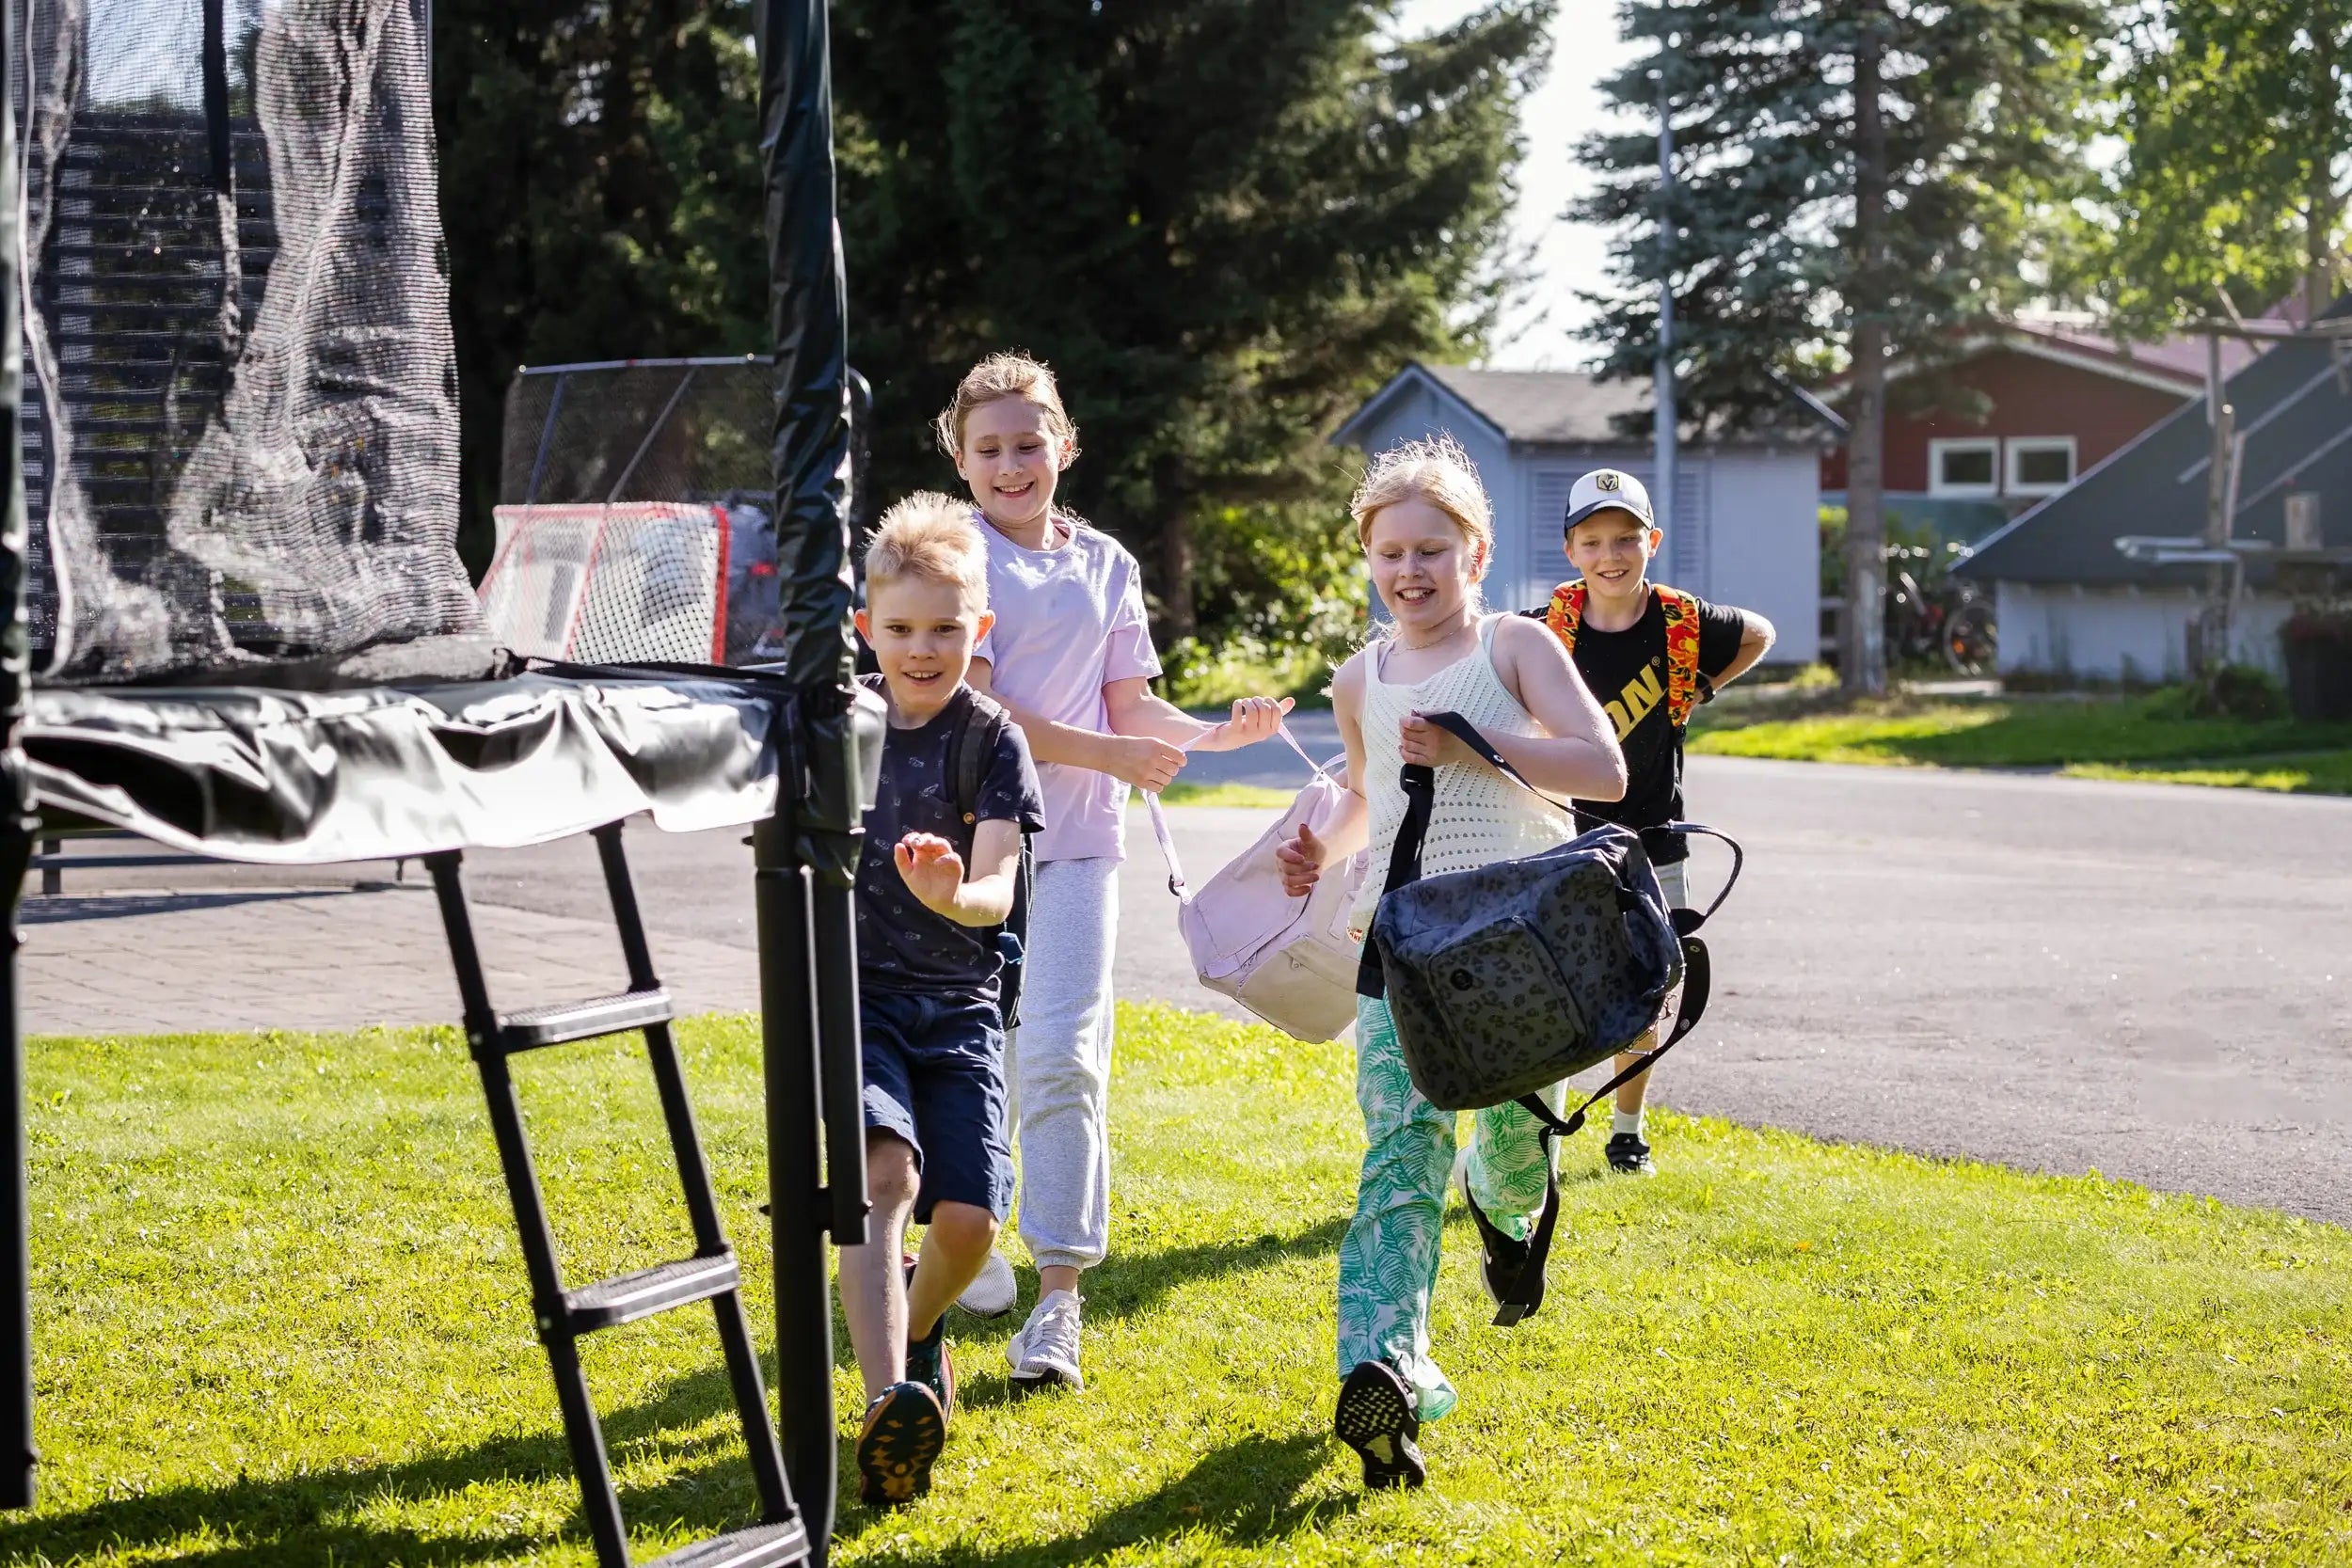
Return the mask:
<svg viewBox="0 0 2352 1568"><path fill-rule="evenodd" d="M2328 315L2352 313L2352 301ZM2328 346L2279 343L2227 381L2246 461L2237 482L2234 538L2286 538L2286 494L2326 496L2324 541L2352 545L2352 362L2338 371ZM2011 583L2176 583L2199 581L2201 567L2147 567L2126 559L2124 534L2204 534L2206 468L2213 428L2204 397L2157 421L2122 451L1992 534L1959 571ZM2267 571L2256 557L2249 578Z"/></svg>

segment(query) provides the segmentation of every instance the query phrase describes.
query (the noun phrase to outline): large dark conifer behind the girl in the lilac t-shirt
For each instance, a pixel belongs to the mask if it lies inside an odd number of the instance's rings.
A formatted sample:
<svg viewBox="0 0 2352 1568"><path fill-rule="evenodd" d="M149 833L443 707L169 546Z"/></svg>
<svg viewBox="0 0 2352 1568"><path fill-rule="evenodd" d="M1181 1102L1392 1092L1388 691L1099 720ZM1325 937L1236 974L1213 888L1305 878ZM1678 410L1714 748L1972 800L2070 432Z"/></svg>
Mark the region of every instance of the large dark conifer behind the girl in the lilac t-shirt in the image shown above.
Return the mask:
<svg viewBox="0 0 2352 1568"><path fill-rule="evenodd" d="M882 494L950 480L929 416L971 360L1023 348L1080 423L1065 494L1143 557L1167 635L1312 602L1275 578L1329 569L1315 538L1345 475L1324 435L1406 357L1475 346L1498 303L1550 0L1423 40L1395 40L1392 12L842 0L851 353Z"/></svg>

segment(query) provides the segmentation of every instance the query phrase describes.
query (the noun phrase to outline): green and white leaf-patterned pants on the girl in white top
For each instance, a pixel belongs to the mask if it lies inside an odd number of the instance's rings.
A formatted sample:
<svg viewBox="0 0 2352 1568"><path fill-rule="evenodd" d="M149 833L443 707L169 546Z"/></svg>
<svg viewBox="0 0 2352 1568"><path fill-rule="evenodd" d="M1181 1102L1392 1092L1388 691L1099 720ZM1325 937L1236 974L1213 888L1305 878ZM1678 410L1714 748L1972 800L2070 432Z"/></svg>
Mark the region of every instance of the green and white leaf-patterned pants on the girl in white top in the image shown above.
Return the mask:
<svg viewBox="0 0 2352 1568"><path fill-rule="evenodd" d="M1562 1086L1543 1095L1559 1110ZM1355 1220L1338 1244L1338 1375L1390 1361L1421 1396L1421 1420L1454 1408L1446 1375L1430 1361L1430 1291L1446 1218L1458 1112L1421 1098L1388 1004L1357 997L1355 1100L1364 1107L1364 1175ZM1543 1140L1517 1105L1475 1112L1468 1180L1477 1206L1512 1237L1543 1213Z"/></svg>

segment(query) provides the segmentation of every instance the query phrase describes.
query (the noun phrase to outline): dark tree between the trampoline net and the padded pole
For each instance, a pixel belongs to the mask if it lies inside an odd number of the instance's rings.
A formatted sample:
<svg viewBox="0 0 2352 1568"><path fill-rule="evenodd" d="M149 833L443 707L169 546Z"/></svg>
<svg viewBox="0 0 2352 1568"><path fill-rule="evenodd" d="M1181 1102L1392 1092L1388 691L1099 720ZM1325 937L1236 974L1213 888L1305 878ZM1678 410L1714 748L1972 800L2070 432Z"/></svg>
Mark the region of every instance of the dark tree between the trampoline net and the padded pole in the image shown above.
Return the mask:
<svg viewBox="0 0 2352 1568"><path fill-rule="evenodd" d="M517 364L757 350L748 0L440 0L463 543L480 569Z"/></svg>

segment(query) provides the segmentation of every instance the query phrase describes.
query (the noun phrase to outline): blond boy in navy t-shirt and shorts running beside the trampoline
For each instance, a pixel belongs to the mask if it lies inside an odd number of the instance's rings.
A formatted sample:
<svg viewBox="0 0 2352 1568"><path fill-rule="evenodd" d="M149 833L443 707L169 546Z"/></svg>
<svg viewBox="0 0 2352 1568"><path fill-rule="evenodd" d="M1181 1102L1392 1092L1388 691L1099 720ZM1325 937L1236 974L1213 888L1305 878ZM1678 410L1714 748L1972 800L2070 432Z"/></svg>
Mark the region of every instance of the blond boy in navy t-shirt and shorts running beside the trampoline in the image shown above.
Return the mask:
<svg viewBox="0 0 2352 1568"><path fill-rule="evenodd" d="M858 1060L866 1070L866 1246L842 1248L842 1316L866 1380L858 1495L910 1502L955 1410L948 1302L969 1286L1011 1208L1004 1103L1004 957L1021 839L1044 797L1021 729L990 722L964 684L988 632L988 552L969 505L913 496L866 550L858 632L889 703L882 788L858 860ZM960 741L962 738L962 741ZM988 745L978 790L960 802L962 748ZM913 1218L929 1229L903 1272Z"/></svg>

